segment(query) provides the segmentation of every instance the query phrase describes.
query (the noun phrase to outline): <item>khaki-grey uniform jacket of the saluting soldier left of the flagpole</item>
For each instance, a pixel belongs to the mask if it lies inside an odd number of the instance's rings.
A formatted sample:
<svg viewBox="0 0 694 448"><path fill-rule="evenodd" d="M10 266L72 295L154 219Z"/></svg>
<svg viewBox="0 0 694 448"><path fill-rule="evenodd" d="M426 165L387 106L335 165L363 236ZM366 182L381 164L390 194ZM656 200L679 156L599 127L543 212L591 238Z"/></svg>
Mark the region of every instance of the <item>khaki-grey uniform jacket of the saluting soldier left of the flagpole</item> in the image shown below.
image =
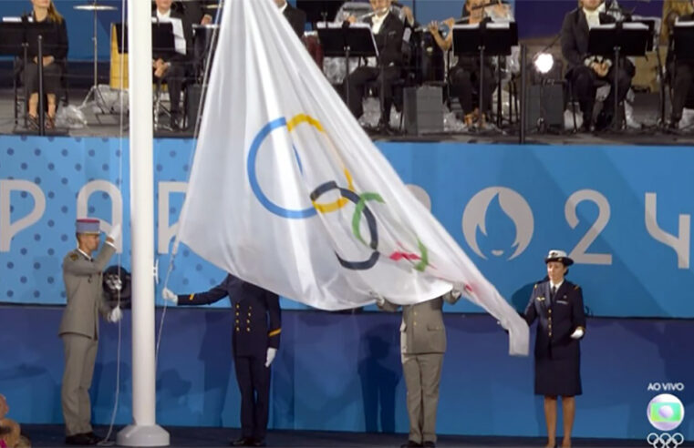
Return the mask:
<svg viewBox="0 0 694 448"><path fill-rule="evenodd" d="M110 311L101 286L102 271L115 251L110 244L104 244L94 260L89 260L78 249L67 253L63 259L67 306L60 321L59 335L76 333L98 339L98 313L106 318Z"/></svg>

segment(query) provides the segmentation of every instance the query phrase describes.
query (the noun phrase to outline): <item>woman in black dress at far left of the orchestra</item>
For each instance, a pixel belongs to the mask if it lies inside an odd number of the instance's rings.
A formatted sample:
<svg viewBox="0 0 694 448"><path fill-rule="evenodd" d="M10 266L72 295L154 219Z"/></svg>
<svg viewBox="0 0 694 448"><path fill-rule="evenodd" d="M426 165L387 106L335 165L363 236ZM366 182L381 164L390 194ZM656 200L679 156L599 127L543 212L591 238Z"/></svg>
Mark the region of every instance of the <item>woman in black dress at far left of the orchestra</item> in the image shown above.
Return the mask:
<svg viewBox="0 0 694 448"><path fill-rule="evenodd" d="M56 98L60 90L60 77L63 75L67 57L67 24L57 12L52 0L31 0L34 7L31 18L36 23L53 25L43 36L44 92L47 97L46 127L55 127ZM38 127L38 46L29 36L28 62L25 67L25 82L28 88L28 113L31 127Z"/></svg>

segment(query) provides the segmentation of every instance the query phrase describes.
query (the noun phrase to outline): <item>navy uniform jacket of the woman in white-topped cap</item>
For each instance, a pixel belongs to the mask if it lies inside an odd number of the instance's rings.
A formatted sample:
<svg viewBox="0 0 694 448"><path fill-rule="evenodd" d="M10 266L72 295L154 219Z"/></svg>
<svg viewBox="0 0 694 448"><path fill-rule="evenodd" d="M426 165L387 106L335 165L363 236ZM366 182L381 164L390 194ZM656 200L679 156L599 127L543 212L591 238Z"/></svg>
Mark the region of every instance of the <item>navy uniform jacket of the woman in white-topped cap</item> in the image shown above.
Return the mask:
<svg viewBox="0 0 694 448"><path fill-rule="evenodd" d="M549 280L537 283L524 312L528 326L537 320L535 356L562 359L578 354L578 341L571 338L577 328L585 331L583 293L578 285L564 280L550 300Z"/></svg>

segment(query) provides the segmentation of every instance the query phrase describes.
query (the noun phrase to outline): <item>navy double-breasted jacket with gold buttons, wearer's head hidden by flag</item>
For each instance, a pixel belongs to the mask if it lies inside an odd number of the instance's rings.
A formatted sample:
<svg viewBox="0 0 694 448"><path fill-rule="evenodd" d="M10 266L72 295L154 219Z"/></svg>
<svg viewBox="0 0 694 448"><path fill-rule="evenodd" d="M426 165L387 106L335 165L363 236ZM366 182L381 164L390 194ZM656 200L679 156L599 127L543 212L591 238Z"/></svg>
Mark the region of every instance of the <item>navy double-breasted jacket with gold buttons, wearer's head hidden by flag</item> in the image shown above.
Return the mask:
<svg viewBox="0 0 694 448"><path fill-rule="evenodd" d="M281 311L279 296L253 283L227 275L208 290L180 295L179 305L207 305L229 297L233 311L234 356L263 357L268 347L279 348Z"/></svg>

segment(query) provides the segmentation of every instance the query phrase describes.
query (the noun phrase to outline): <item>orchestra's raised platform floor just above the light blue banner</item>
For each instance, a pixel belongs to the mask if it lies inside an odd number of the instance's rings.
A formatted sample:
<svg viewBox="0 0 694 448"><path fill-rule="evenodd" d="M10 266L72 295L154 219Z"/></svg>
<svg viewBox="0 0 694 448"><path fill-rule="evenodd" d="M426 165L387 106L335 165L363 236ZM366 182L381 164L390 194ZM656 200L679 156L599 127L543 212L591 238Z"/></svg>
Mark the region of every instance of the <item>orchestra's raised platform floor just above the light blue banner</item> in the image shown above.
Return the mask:
<svg viewBox="0 0 694 448"><path fill-rule="evenodd" d="M82 98L87 94L86 90L71 89L70 105L78 107ZM634 105L634 118L643 128L630 128L620 132L601 132L601 133L579 133L574 134L570 131L538 134L528 132L526 143L539 145L681 145L694 146L694 128L689 128L678 132L666 132L655 127L655 119L658 110L657 94L637 94L637 101ZM71 137L119 137L119 114L94 115L92 107L83 109L85 118L88 121L86 127L79 129L57 129L54 132L47 132L47 135L67 135ZM125 118L127 126L128 117ZM168 118L162 118L165 123ZM23 119L18 120L15 125L14 117L14 94L10 90L0 91L0 135L36 135L36 131L30 131L24 127ZM127 127L124 130L128 136ZM155 137L192 137L190 132L171 132L167 130L155 131ZM484 132L444 132L439 134L429 134L424 136L411 135L380 135L373 134L373 140L379 141L401 141L401 142L438 142L453 141L466 143L519 143L517 125L504 127L501 130L494 129Z"/></svg>

